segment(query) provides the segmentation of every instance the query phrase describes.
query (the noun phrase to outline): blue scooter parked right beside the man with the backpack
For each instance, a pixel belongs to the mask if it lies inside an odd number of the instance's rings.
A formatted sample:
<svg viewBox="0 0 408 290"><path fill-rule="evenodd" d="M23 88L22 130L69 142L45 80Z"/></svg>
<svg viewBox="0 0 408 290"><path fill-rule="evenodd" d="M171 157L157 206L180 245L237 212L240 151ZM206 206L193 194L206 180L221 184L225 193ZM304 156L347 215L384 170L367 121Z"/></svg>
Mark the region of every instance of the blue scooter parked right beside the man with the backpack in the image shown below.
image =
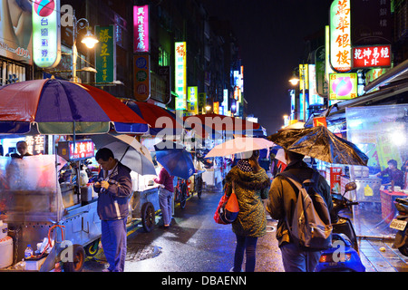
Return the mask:
<svg viewBox="0 0 408 290"><path fill-rule="evenodd" d="M357 188L355 182L345 185L345 193ZM338 213L345 208L358 205L343 195L332 193L333 214L332 247L322 251L316 272L365 272L365 267L358 254L358 242L355 228L350 218Z"/></svg>

